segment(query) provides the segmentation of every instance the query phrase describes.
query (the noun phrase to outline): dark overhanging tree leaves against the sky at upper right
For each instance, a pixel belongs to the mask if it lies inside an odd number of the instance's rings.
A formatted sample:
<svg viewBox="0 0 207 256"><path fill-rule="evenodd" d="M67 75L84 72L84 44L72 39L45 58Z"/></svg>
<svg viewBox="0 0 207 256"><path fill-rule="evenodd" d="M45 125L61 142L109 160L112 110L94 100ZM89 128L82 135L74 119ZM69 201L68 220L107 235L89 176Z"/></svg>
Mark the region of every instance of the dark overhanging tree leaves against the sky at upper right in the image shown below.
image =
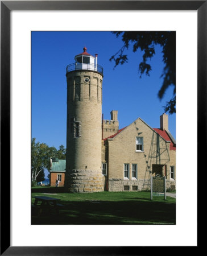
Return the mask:
<svg viewBox="0 0 207 256"><path fill-rule="evenodd" d="M142 61L139 63L140 77L143 73L150 76L152 70L151 65L147 63L147 60L155 55L155 45L159 44L162 47L164 69L160 77L163 77L163 84L159 90L158 97L163 98L165 91L169 86L176 86L176 34L175 31L115 31L113 32L117 37L122 36L123 46L115 55L110 58L114 60L115 67L119 64L127 62L127 55L123 54L125 49L129 48L130 44L133 44L133 52L138 49L144 52ZM175 94L175 88L173 90ZM166 111L169 113L175 113L175 100L167 102L165 106Z"/></svg>

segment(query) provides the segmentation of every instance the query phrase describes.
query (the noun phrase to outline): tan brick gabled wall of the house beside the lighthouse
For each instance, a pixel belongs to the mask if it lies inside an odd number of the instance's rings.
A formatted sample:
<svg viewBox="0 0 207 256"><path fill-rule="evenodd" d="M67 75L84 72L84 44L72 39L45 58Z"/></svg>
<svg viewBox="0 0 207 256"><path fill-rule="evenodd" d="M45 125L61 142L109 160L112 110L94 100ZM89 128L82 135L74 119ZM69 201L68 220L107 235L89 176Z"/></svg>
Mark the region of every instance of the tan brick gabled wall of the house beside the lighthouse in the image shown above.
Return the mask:
<svg viewBox="0 0 207 256"><path fill-rule="evenodd" d="M143 138L143 152L136 152L136 137ZM175 151L170 152L169 144L140 118L105 141L102 161L107 162L109 191L150 189L150 176L157 172L166 175L170 187L169 171L171 164L175 164ZM128 178L124 177L124 164L129 164ZM136 164L136 178L132 176L132 164Z"/></svg>

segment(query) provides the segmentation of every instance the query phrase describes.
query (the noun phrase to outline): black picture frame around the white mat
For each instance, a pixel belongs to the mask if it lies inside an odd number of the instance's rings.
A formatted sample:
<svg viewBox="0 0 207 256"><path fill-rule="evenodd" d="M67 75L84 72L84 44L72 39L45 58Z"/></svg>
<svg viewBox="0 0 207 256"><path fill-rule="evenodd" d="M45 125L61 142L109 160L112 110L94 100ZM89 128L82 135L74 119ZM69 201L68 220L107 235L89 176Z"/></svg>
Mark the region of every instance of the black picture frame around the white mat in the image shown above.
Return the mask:
<svg viewBox="0 0 207 256"><path fill-rule="evenodd" d="M207 1L1 1L1 255L149 254L154 247L10 246L10 184L3 182L3 174L5 175L6 171L7 181L10 180L10 13L12 10L197 10L197 170L198 167L205 170ZM6 196L3 195L5 191ZM198 245L197 243L197 246L192 246L191 252L192 249L198 249ZM176 246L171 249L171 253L174 250L177 250ZM159 247L159 254L164 253L167 253L166 248Z"/></svg>

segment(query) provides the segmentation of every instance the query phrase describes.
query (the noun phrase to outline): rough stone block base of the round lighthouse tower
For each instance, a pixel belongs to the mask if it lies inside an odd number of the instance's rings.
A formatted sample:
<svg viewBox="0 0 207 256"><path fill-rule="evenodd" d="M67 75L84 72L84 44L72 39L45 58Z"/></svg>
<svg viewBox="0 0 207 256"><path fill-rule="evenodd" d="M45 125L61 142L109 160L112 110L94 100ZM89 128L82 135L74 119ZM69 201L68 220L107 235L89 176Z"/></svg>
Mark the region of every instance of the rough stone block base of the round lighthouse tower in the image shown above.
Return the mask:
<svg viewBox="0 0 207 256"><path fill-rule="evenodd" d="M67 192L101 192L103 188L104 180L100 170L72 170L65 180Z"/></svg>

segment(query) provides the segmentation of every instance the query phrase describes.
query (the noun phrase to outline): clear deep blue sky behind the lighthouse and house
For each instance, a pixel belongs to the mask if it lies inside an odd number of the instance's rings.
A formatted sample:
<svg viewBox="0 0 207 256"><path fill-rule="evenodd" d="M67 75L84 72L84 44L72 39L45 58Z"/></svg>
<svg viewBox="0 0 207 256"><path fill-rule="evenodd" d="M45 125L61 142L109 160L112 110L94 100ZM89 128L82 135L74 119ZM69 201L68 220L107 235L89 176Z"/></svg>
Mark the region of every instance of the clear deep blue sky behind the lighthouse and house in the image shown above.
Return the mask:
<svg viewBox="0 0 207 256"><path fill-rule="evenodd" d="M119 129L140 117L152 128L160 127L163 106L173 96L173 87L167 89L160 101L158 91L162 86L162 49L155 48L150 64L150 77L139 78L138 67L143 53L126 51L128 63L118 65L109 59L122 46L121 37L111 32L32 32L32 138L57 149L66 147L67 81L65 71L74 63L74 56L87 48L91 55L98 53L98 64L103 67L104 119L110 111L118 110ZM176 114L169 115L169 131L176 139Z"/></svg>

